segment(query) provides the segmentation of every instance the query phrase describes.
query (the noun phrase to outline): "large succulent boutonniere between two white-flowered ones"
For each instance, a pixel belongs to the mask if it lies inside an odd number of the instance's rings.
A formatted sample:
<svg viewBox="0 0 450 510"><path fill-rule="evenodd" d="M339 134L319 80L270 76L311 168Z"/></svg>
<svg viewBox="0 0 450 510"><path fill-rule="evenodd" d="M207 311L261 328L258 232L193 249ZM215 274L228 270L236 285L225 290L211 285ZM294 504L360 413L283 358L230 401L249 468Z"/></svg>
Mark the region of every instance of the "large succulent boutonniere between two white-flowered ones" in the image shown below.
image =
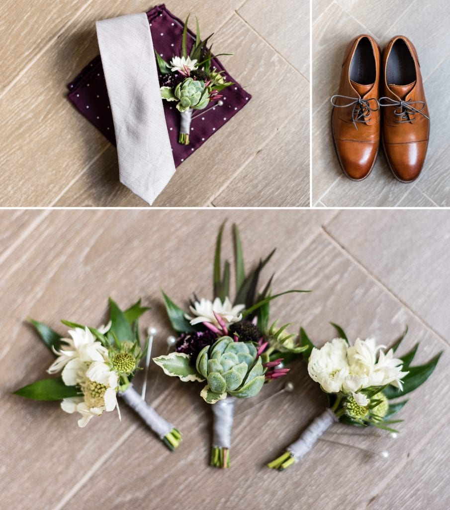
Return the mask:
<svg viewBox="0 0 450 510"><path fill-rule="evenodd" d="M260 273L273 250L248 273L245 272L239 231L233 226L235 245L236 295L230 298L229 261L221 266L223 224L217 236L213 270L213 300L195 296L188 310L178 307L164 293L168 318L178 339L175 352L158 356L154 362L165 374L182 381L203 382L199 389L205 402L212 404L214 417L211 466L230 466L231 429L237 399L256 396L264 384L285 376L285 364L307 346L287 333L290 324L269 326L272 299L292 292L271 294L272 278L257 292Z"/></svg>

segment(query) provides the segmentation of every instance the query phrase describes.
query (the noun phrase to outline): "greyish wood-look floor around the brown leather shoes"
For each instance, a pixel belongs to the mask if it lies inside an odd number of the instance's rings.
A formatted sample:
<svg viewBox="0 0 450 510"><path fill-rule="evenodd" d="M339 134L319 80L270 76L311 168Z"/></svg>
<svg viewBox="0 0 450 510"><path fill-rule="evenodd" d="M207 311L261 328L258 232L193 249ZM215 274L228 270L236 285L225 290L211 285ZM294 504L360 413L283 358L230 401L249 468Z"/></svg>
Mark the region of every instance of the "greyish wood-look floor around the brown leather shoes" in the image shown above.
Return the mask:
<svg viewBox="0 0 450 510"><path fill-rule="evenodd" d="M313 0L313 204L326 207L450 206L450 10L446 0ZM341 171L330 132L330 97L338 92L344 51L359 34L381 49L395 35L415 45L431 115L427 160L414 184L391 175L380 150L371 175L351 182Z"/></svg>

